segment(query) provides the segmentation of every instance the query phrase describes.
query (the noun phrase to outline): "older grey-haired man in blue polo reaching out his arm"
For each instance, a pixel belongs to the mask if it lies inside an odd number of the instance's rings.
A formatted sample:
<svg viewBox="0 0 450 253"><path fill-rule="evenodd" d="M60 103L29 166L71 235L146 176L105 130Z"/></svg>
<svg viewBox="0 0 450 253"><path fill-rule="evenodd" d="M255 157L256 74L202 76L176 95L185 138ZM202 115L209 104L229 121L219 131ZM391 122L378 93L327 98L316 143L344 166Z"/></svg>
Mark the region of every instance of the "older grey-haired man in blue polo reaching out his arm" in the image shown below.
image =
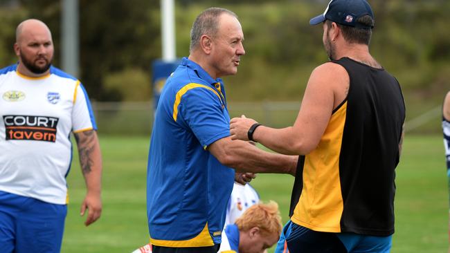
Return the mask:
<svg viewBox="0 0 450 253"><path fill-rule="evenodd" d="M217 252L238 171L295 174L297 157L231 140L224 75L235 75L244 35L230 10L195 20L190 55L159 100L147 167L147 216L153 252Z"/></svg>

